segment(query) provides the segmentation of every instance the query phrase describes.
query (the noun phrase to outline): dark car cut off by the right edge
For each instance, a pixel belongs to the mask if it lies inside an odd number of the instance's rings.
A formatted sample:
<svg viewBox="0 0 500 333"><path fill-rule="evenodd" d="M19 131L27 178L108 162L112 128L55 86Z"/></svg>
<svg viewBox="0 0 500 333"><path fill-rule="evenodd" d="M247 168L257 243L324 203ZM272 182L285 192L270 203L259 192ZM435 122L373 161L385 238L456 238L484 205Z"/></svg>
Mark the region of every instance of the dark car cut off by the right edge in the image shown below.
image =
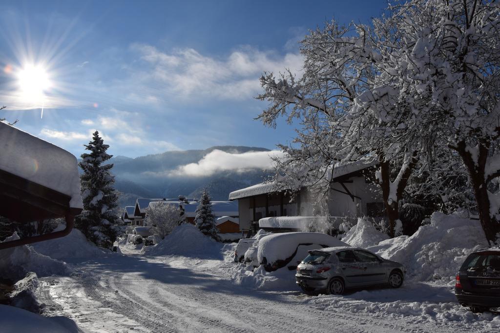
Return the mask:
<svg viewBox="0 0 500 333"><path fill-rule="evenodd" d="M456 274L455 296L472 312L500 308L500 249L471 253Z"/></svg>

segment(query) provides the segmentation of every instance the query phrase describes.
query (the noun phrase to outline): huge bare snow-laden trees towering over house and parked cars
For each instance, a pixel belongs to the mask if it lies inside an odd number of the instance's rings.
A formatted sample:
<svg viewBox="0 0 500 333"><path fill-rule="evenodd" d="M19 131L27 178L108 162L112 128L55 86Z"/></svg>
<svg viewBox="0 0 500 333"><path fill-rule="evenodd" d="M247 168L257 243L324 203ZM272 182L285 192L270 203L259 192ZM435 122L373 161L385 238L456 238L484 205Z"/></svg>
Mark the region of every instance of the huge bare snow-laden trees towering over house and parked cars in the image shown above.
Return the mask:
<svg viewBox="0 0 500 333"><path fill-rule="evenodd" d="M412 172L449 147L468 170L481 225L494 241L500 216L487 183L500 176L499 8L410 0L370 26L333 21L311 31L301 42L300 79L289 72L261 78L259 98L270 102L263 123L286 116L302 127L301 147L288 147L285 163L324 186L332 161L376 160L393 235Z"/></svg>

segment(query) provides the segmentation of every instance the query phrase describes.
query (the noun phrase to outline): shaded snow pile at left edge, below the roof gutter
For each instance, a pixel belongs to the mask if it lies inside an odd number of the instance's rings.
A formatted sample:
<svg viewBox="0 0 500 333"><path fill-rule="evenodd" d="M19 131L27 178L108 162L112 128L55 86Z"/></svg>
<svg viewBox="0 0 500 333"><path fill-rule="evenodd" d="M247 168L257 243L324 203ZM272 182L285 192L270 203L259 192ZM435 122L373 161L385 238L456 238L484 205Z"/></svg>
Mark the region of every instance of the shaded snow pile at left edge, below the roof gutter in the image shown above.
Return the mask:
<svg viewBox="0 0 500 333"><path fill-rule="evenodd" d="M16 239L19 239L19 236L14 233L7 237L5 242ZM0 276L2 278L19 280L28 272L34 272L39 277L69 273L64 263L41 255L29 246L0 250Z"/></svg>

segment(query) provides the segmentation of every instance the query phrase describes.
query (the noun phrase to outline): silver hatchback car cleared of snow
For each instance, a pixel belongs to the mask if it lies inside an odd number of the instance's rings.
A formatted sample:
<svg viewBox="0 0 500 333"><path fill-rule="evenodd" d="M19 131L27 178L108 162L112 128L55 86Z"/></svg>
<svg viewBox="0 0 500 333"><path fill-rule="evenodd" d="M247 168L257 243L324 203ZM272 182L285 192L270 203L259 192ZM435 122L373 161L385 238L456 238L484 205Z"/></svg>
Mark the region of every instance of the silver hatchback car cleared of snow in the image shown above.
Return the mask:
<svg viewBox="0 0 500 333"><path fill-rule="evenodd" d="M399 288L406 273L403 265L353 247L308 251L297 266L295 280L306 292L343 294L346 289L388 284Z"/></svg>

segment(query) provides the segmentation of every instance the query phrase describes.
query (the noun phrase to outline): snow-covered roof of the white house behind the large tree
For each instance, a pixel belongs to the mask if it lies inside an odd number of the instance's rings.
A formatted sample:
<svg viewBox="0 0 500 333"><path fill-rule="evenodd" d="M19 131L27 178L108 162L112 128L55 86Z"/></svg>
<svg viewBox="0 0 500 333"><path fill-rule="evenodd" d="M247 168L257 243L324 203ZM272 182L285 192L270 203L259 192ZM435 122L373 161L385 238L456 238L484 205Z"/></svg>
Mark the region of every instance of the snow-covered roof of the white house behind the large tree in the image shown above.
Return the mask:
<svg viewBox="0 0 500 333"><path fill-rule="evenodd" d="M369 168L371 166L376 165L376 162L366 162L366 161L358 161L358 162L349 162L349 163L339 163L334 166L333 169L333 179L339 178L341 176L346 176L351 173ZM275 182L267 182L260 183L256 185L252 185L249 187L245 187L240 190L233 191L229 193L229 200L236 200L247 197L254 197L261 194L273 193L278 191Z"/></svg>

